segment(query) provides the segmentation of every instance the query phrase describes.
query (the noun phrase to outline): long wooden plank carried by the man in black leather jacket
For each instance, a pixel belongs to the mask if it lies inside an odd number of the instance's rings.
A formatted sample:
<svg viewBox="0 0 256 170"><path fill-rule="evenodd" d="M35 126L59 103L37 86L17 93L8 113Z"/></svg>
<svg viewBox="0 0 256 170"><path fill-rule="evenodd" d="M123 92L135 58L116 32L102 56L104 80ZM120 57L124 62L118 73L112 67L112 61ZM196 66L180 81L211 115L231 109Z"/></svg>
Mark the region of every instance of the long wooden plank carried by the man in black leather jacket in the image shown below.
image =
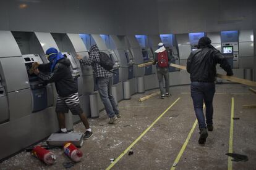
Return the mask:
<svg viewBox="0 0 256 170"><path fill-rule="evenodd" d="M171 63L171 67L176 67L176 68L180 68L182 70L186 70L186 66L183 66L183 65L176 65L176 64ZM226 80L229 80L229 81L233 81L233 82L236 82L236 83L240 83L240 84L245 84L247 86L256 87L256 82L255 81L250 81L250 80L242 79L242 78L236 78L234 76L221 75L219 73L216 74L216 77L226 79Z"/></svg>

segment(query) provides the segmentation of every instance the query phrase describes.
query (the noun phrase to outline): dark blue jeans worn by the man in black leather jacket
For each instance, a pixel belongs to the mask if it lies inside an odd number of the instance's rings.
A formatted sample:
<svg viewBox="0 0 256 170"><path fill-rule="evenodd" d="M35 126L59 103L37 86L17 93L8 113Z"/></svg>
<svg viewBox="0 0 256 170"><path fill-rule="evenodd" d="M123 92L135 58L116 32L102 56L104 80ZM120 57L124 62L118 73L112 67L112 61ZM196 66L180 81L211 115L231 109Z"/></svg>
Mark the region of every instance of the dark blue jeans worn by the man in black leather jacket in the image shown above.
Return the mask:
<svg viewBox="0 0 256 170"><path fill-rule="evenodd" d="M213 124L213 96L215 94L215 83L198 82L191 83L191 97L194 103L195 115L197 116L199 128L206 127L207 124ZM206 113L203 115L203 102L205 103Z"/></svg>

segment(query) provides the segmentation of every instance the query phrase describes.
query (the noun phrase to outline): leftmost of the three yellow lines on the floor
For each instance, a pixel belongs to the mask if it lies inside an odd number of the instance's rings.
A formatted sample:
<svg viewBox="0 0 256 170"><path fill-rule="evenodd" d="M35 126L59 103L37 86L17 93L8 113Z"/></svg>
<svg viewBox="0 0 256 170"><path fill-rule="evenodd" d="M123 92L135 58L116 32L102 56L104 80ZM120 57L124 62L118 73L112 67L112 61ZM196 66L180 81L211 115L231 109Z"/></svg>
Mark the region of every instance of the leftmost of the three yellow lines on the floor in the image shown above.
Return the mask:
<svg viewBox="0 0 256 170"><path fill-rule="evenodd" d="M132 147L133 147L150 129L151 129L151 127L153 127L154 124L156 124L156 122L157 122L171 107L173 107L173 105L175 105L175 103L176 103L179 99L181 99L181 97L179 97L178 99L176 99L175 102L173 102L173 104L171 104L157 119L155 119L155 121L154 121L144 132L142 132L142 134L140 134L140 136L139 136L136 140L134 140L134 142L133 142L128 148L126 148L126 150L124 150L124 152L123 152L121 155L119 155L118 158L116 158L116 160L114 160L114 162L111 163L111 164L108 166L108 168L106 168L106 170L113 168L113 166L114 166L119 160L121 160L122 156L126 155L126 153L130 150L130 148L132 148Z"/></svg>

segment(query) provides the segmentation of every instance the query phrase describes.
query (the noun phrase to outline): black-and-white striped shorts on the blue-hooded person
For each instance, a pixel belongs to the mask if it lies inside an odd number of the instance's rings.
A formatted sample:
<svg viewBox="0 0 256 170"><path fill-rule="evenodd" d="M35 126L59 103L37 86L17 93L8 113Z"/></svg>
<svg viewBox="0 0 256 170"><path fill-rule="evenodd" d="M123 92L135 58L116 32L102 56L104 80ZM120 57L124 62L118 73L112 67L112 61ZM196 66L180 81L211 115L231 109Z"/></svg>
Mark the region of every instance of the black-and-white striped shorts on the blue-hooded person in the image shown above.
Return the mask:
<svg viewBox="0 0 256 170"><path fill-rule="evenodd" d="M83 113L83 110L80 107L79 94L77 92L68 97L58 96L55 109L56 113L68 113L69 110L73 115L80 115Z"/></svg>

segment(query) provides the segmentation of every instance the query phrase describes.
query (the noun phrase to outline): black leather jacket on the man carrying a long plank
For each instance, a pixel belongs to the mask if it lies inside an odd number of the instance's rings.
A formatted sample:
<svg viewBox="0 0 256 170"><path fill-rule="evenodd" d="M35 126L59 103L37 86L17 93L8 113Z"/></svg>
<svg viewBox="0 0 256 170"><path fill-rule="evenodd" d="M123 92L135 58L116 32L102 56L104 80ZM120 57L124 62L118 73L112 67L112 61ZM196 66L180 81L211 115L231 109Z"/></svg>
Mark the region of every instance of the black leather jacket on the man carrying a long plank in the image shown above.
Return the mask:
<svg viewBox="0 0 256 170"><path fill-rule="evenodd" d="M192 51L187 59L187 72L190 73L190 80L214 82L217 63L227 72L228 76L233 75L228 60L220 51L209 47Z"/></svg>

